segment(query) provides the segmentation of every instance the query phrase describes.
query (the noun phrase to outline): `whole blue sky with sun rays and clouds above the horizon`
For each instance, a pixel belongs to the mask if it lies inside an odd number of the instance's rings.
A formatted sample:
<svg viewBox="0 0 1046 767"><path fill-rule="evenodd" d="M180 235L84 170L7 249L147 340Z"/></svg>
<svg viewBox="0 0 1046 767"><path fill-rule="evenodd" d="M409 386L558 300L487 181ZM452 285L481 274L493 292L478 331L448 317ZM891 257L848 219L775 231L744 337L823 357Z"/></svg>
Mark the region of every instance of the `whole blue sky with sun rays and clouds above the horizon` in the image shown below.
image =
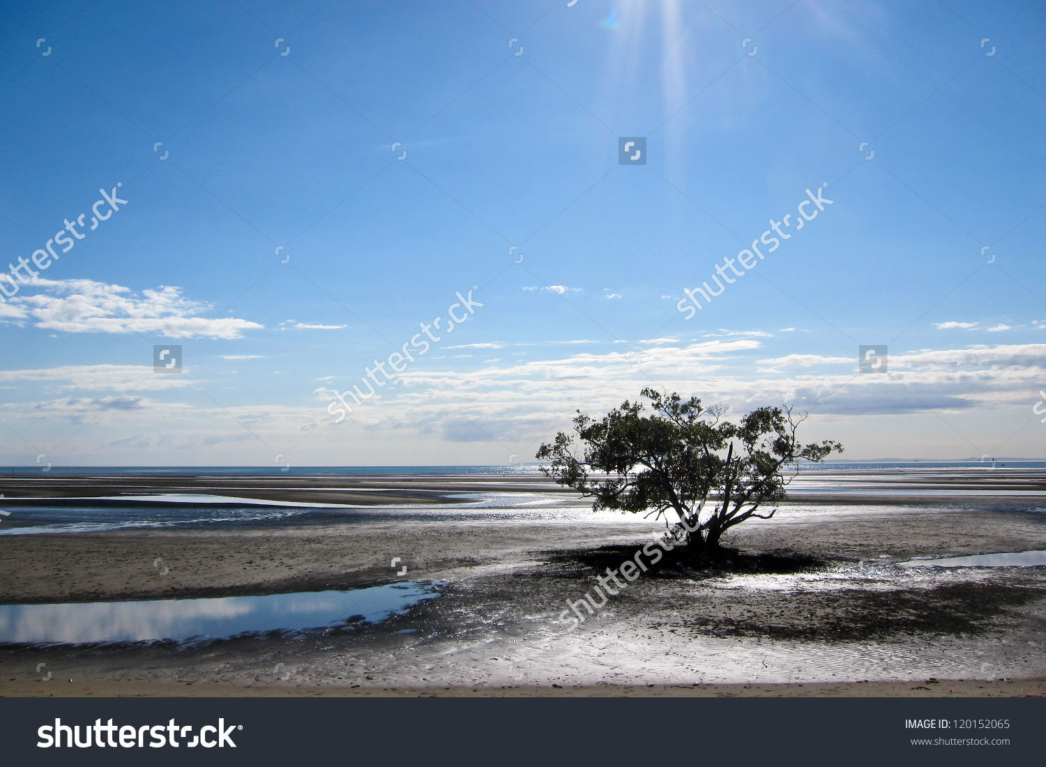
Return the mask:
<svg viewBox="0 0 1046 767"><path fill-rule="evenodd" d="M1026 1L0 3L8 260L128 201L0 304L0 461L528 460L644 385L1041 458L1044 38Z"/></svg>

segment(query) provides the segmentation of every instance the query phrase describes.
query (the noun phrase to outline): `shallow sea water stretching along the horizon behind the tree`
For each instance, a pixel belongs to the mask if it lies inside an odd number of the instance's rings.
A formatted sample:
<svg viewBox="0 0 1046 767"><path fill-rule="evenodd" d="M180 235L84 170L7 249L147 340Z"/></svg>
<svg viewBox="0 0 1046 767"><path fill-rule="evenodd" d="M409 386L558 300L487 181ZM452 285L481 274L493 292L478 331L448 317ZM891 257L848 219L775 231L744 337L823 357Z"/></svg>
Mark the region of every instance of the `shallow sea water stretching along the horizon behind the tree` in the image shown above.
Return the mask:
<svg viewBox="0 0 1046 767"><path fill-rule="evenodd" d="M1046 461L999 460L995 468L977 460L967 461L831 461L805 465L789 487L790 514L826 513L818 510L825 500L837 511L867 513L869 499L889 502L892 507L917 502L923 507L971 507L991 504L1002 511L1042 513L1046 511L1046 492L1038 479ZM28 475L41 482L41 470L31 467L7 467L6 473ZM301 525L402 521L493 521L526 522L634 522L645 523L641 515L614 512L594 514L591 505L576 496L499 488L500 478L540 475L538 465L513 466L429 466L429 467L292 467L281 472L272 467L52 467L46 476L85 475L94 478L120 478L130 475L152 476L256 476L263 477L338 477L432 476L481 479L475 491L444 491L447 502L406 501L403 504L331 503L301 500L264 500L250 497L197 493L151 492L108 497L41 499L19 503L16 498L0 499L0 536L41 533L89 533L134 528L219 528L243 525ZM43 478L46 483L46 478ZM249 484L249 483L248 483ZM262 480L258 487L265 484ZM380 484L380 483L379 483ZM302 489L323 489L323 482L301 482ZM31 486L30 486L31 487ZM283 490L291 490L286 483ZM331 488L337 490L339 488ZM376 490L371 487L370 490ZM224 489L222 492L236 492ZM249 494L248 488L241 488ZM357 494L357 498L359 494ZM895 502L894 502L895 501ZM808 502L810 509L803 509ZM845 504L845 509L840 507ZM814 510L814 511L811 511ZM782 510L782 512L786 510ZM672 520L673 522L675 519Z"/></svg>

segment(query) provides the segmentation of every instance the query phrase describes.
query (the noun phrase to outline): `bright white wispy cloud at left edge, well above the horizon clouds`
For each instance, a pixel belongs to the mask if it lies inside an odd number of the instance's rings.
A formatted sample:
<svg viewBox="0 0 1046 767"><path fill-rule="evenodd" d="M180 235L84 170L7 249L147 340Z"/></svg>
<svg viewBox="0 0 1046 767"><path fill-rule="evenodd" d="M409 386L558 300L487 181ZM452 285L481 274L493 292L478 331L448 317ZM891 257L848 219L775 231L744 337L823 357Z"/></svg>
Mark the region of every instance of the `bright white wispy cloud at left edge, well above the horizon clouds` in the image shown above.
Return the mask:
<svg viewBox="0 0 1046 767"><path fill-rule="evenodd" d="M244 331L263 325L235 317L207 319L195 316L210 309L207 303L181 295L179 288L160 286L133 293L129 288L91 279L36 278L25 290L43 289L33 295L8 298L13 304L4 317L36 320L36 326L63 333L155 333L168 338L240 338Z"/></svg>

